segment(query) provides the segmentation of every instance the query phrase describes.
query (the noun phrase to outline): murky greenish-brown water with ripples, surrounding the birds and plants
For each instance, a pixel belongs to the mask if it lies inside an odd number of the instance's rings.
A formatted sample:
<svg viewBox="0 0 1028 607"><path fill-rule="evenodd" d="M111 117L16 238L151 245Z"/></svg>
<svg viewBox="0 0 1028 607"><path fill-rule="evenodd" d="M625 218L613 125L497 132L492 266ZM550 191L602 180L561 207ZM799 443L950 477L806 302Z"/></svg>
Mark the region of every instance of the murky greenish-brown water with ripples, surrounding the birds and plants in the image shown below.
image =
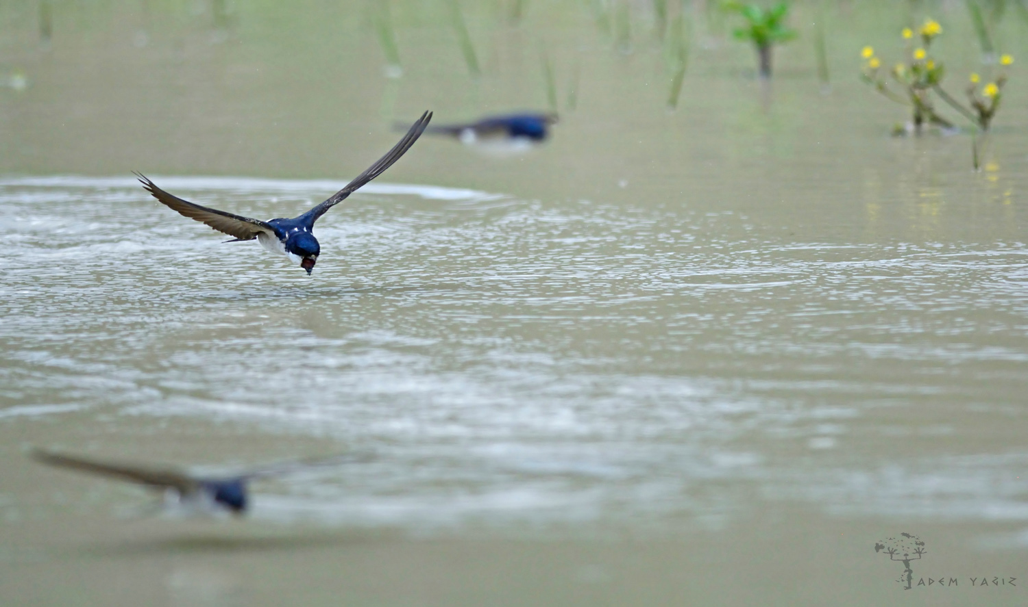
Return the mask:
<svg viewBox="0 0 1028 607"><path fill-rule="evenodd" d="M675 112L645 7L630 53L587 3L466 7L472 79L446 6L393 6L400 79L363 3L52 2L42 42L0 6L27 82L0 88L5 604L862 605L903 596L873 546L904 531L938 574L1028 580L1017 72L974 173L967 136L890 139L903 108L856 81L862 44L901 50L890 3L829 8L829 91L801 39L762 92L697 7ZM964 8L932 14L972 66ZM1028 59L1026 28L997 39ZM541 56L552 142L423 139L319 222L310 277L130 175L295 215L394 120L545 109ZM373 457L203 524L27 445ZM932 600L1022 600L961 583Z"/></svg>

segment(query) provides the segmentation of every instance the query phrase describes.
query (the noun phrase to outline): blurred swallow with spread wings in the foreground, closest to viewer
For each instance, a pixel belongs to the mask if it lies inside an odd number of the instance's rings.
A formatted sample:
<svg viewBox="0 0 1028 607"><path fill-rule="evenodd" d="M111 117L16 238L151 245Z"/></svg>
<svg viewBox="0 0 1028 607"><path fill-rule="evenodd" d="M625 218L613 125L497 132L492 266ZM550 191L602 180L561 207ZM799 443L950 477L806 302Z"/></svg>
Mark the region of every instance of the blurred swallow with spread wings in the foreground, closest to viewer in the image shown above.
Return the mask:
<svg viewBox="0 0 1028 607"><path fill-rule="evenodd" d="M282 462L223 477L207 477L164 466L104 462L44 449L29 455L38 462L104 477L112 477L161 491L164 506L185 515L230 513L243 515L250 506L247 484L255 479L279 477L358 459L340 455L323 459Z"/></svg>

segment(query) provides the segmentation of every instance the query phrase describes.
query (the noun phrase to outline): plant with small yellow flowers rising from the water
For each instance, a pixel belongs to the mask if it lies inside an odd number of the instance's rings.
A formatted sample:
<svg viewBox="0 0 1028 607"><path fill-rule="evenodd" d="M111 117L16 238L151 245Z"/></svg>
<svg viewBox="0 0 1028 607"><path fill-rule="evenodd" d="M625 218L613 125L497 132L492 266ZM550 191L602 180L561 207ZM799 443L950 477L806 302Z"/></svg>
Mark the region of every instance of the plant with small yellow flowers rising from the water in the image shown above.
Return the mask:
<svg viewBox="0 0 1028 607"><path fill-rule="evenodd" d="M953 123L935 110L930 93L934 93L976 127L983 131L988 130L999 109L1000 93L1003 84L1006 83L1005 68L1014 64L1014 58L1003 54L999 61L1003 71L984 85L981 84L981 77L978 74L971 74L970 84L965 90L968 100L968 105L965 106L943 88L946 66L929 53L932 41L942 34L943 27L930 18L925 21L916 33L910 28L904 28L902 36L912 46L908 48L908 59L895 64L887 72L882 67L882 61L875 54L874 48L866 46L861 51L865 60L861 79L886 98L909 106L915 132L920 132L925 122L944 128L953 127Z"/></svg>

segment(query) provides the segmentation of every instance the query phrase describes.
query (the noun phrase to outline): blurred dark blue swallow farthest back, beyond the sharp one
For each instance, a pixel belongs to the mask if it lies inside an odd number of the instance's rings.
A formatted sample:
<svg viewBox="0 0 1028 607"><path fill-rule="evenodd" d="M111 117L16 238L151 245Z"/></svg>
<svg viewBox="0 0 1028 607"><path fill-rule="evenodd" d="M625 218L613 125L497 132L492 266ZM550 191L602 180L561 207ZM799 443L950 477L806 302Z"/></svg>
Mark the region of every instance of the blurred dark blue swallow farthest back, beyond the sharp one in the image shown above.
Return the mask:
<svg viewBox="0 0 1028 607"><path fill-rule="evenodd" d="M432 126L426 132L446 135L486 152L516 153L530 150L546 141L550 125L556 122L556 114L523 112L486 116L465 124Z"/></svg>

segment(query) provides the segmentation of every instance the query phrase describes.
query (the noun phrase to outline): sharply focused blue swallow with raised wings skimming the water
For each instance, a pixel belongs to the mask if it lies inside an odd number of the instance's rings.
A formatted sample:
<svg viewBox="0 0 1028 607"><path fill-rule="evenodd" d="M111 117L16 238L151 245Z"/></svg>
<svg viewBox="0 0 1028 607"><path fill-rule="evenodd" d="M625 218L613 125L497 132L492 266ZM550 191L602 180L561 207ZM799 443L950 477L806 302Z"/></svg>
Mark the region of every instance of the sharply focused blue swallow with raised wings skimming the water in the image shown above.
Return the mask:
<svg viewBox="0 0 1028 607"><path fill-rule="evenodd" d="M167 204L185 217L194 219L198 222L204 222L219 232L224 232L229 236L234 236L233 239L226 240L226 242L253 240L256 238L257 241L264 246L264 249L267 249L272 253L281 253L282 255L285 255L293 263L298 264L301 268L306 270L307 275L309 275L311 270L315 268L315 263L318 261L318 256L321 255L321 245L318 243L318 238L315 238L313 233L315 222L318 221L321 216L325 215L329 208L332 208L339 202L342 202L346 196L350 196L357 191L358 188L378 177L387 168L392 166L393 163L400 158L400 156L403 156L403 154L410 149L410 146L414 145L414 142L417 141L417 138L419 138L421 132L425 131L425 128L428 126L429 120L431 119L432 112L426 112L416 122L414 122L410 129L407 130L407 135L405 135L403 139L401 139L400 142L396 144L384 156L379 158L377 162L369 166L368 169L361 175L354 178L354 181L346 184L346 187L333 194L330 198L303 215L293 219L272 219L269 221L260 221L249 217L225 213L224 211L218 211L216 208L200 206L199 204L194 204L169 194L139 173L137 173L136 176L139 178L140 183L143 184L143 188L150 192L150 194L160 202Z"/></svg>

